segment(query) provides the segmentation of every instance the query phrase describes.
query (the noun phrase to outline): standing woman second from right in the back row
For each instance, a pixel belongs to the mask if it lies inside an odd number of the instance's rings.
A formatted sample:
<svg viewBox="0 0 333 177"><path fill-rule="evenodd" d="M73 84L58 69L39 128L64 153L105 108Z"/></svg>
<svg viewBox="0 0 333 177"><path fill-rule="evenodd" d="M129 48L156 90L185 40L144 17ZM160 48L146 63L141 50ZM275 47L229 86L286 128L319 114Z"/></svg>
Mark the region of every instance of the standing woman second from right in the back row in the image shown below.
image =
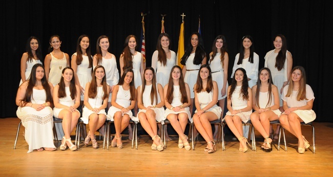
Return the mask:
<svg viewBox="0 0 333 177"><path fill-rule="evenodd" d="M253 39L249 35L242 37L239 53L236 55L231 78L234 77L237 68L245 69L250 89L257 84L259 70L259 55L255 53ZM249 125L243 126L244 137L248 137Z"/></svg>

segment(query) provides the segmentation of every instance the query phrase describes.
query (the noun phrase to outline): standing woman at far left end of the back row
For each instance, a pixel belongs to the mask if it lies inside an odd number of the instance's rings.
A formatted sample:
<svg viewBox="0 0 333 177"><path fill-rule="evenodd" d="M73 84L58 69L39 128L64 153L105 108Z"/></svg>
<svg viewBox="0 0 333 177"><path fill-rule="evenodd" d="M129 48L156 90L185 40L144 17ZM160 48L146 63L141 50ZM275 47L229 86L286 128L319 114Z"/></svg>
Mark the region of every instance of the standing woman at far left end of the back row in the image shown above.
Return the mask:
<svg viewBox="0 0 333 177"><path fill-rule="evenodd" d="M28 38L26 43L26 52L23 53L21 58L21 80L19 85L29 79L31 69L34 64L41 63L41 49L39 47L39 39L35 36Z"/></svg>

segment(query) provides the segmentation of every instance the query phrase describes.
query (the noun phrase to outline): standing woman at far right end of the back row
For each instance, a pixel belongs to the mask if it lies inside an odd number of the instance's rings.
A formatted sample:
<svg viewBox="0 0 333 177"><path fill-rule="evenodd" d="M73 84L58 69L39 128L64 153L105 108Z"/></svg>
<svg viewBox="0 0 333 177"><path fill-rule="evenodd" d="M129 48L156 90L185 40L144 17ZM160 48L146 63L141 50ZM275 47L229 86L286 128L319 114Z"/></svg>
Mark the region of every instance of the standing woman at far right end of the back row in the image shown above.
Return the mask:
<svg viewBox="0 0 333 177"><path fill-rule="evenodd" d="M289 78L293 68L293 57L292 54L287 50L287 40L282 34L275 36L274 50L271 50L265 55L265 67L272 71L273 83L278 87L279 98L282 98L281 94L283 88L289 83ZM282 99L279 100L280 111L283 112ZM273 127L270 126L273 134ZM274 139L278 139L280 126L278 125L275 131Z"/></svg>

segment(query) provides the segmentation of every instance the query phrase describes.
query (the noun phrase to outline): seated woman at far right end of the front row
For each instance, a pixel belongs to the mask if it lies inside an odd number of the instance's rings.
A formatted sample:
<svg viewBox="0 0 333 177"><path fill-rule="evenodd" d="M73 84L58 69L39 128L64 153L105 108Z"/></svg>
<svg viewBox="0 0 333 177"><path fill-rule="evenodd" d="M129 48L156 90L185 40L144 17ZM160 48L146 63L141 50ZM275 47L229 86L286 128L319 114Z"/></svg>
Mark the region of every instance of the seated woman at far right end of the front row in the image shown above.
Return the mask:
<svg viewBox="0 0 333 177"><path fill-rule="evenodd" d="M298 153L304 153L310 144L302 135L301 122L309 123L316 119L316 113L312 110L315 96L310 85L306 84L303 67L294 67L290 80L282 92L284 112L280 116L280 123L298 139Z"/></svg>

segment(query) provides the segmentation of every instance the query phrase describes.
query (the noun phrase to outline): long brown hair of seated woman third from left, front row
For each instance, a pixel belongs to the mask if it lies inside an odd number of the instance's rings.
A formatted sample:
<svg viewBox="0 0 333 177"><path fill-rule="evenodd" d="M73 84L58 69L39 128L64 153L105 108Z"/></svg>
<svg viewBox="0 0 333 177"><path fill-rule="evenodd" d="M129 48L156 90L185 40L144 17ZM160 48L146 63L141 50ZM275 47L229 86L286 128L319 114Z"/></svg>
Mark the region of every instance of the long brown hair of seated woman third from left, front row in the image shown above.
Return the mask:
<svg viewBox="0 0 333 177"><path fill-rule="evenodd" d="M98 68L102 68L104 73L105 73L105 68L102 65L97 65L95 67L94 72L93 72L93 77L92 77L92 80L91 80L91 83L90 83L90 87L89 87L89 90L88 90L88 97L89 98L96 98L96 96L97 96L97 81L96 81L95 73L96 73L96 70ZM107 74L104 75L101 84L103 85L104 95L102 96L102 99L104 100L104 99L109 97L108 84L107 84Z"/></svg>

